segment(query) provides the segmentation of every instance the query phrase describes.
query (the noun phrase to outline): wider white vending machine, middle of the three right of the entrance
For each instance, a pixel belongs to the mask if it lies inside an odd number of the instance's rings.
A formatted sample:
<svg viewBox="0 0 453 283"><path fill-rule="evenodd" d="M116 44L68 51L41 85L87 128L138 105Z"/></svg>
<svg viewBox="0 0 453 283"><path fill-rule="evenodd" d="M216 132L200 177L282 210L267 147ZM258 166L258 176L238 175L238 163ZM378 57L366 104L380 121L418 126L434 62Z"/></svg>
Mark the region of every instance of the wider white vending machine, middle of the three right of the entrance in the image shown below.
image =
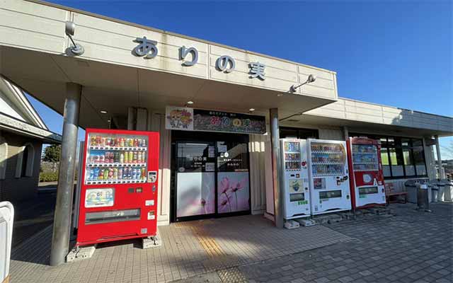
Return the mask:
<svg viewBox="0 0 453 283"><path fill-rule="evenodd" d="M345 141L307 139L311 214L351 209Z"/></svg>

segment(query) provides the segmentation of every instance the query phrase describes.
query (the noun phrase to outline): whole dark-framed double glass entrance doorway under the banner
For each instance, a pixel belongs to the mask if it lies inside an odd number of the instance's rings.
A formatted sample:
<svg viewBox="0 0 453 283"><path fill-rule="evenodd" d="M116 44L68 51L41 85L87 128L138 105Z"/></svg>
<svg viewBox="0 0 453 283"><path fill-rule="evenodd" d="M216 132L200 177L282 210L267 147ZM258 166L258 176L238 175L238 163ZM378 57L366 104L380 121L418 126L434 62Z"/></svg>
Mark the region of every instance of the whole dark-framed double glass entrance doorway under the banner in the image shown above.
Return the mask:
<svg viewBox="0 0 453 283"><path fill-rule="evenodd" d="M248 135L172 132L171 219L250 214Z"/></svg>

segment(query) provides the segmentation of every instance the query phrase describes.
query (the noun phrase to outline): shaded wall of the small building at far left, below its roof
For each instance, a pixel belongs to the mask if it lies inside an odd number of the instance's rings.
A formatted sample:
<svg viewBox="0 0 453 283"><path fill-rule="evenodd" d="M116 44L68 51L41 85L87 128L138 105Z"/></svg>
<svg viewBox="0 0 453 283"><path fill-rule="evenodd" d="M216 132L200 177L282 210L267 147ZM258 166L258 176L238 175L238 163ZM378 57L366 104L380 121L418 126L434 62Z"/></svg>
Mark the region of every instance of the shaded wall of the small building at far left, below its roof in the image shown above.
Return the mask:
<svg viewBox="0 0 453 283"><path fill-rule="evenodd" d="M0 132L0 140L8 144L5 176L0 180L0 201L16 204L35 197L40 175L41 141L5 131ZM30 177L16 178L19 153L25 144L31 144L34 149L33 171Z"/></svg>

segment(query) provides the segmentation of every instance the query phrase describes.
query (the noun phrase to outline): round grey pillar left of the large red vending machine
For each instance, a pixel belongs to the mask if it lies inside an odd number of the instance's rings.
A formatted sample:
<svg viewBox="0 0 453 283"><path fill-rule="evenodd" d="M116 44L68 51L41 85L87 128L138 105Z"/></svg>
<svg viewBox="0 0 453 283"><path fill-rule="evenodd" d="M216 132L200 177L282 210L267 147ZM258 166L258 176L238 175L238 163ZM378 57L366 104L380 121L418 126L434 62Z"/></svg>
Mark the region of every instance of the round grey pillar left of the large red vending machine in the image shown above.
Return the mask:
<svg viewBox="0 0 453 283"><path fill-rule="evenodd" d="M62 156L59 162L50 265L62 264L69 252L81 89L82 87L76 83L67 83L66 85Z"/></svg>

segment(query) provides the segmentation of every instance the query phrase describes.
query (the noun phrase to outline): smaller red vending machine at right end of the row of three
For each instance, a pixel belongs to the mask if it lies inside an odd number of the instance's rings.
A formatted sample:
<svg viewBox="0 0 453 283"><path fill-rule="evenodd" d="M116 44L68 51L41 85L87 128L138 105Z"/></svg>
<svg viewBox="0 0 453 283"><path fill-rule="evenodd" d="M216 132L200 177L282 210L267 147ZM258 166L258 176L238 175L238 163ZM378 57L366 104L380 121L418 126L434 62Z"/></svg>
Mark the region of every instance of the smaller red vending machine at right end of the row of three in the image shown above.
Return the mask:
<svg viewBox="0 0 453 283"><path fill-rule="evenodd" d="M347 142L352 209L385 205L380 142L367 137Z"/></svg>

